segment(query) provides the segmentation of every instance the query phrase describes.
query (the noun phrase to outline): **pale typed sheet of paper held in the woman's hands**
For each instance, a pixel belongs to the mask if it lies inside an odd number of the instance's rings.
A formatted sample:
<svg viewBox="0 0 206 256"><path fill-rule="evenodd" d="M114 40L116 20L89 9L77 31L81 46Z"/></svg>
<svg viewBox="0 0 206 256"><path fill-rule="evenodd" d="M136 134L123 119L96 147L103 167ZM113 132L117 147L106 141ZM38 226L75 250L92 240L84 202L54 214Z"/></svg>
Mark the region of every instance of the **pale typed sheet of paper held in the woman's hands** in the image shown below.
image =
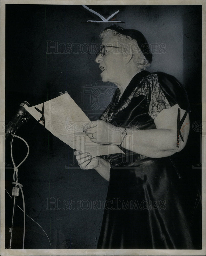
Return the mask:
<svg viewBox="0 0 206 256"><path fill-rule="evenodd" d="M43 103L26 107L26 110L39 120L42 114L38 110L42 111L42 106ZM44 103L44 118L47 130L75 150L89 152L93 157L124 153L116 145L91 142L83 132L83 127L87 126L90 120L68 93ZM40 123L43 124L43 120Z"/></svg>

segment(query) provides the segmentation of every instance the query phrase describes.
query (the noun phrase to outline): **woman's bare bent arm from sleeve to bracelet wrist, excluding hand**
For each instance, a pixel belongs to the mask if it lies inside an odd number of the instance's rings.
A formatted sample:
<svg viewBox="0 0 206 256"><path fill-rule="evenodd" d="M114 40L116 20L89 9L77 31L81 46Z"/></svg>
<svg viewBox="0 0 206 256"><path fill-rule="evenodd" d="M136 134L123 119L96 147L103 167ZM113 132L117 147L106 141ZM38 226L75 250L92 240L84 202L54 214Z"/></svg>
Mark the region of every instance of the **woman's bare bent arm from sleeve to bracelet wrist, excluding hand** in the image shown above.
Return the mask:
<svg viewBox="0 0 206 256"><path fill-rule="evenodd" d="M152 130L131 130L126 129L127 135L123 140L123 131L112 132L114 141L122 141L121 146L140 155L147 157L166 157L182 150L187 142L190 125L189 114L187 114L180 132L183 140L179 136L177 146L177 109L178 105L170 109L162 110L154 120L157 129ZM181 110L181 118L185 111ZM116 144L116 143L115 143Z"/></svg>

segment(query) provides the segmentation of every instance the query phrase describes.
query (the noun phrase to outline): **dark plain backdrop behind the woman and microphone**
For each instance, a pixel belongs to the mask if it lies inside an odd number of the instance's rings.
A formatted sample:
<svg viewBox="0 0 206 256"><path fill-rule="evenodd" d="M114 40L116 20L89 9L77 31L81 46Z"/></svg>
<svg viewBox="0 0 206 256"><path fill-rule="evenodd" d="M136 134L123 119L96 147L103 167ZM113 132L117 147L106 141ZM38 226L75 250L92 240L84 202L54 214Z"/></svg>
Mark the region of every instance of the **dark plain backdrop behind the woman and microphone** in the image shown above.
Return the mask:
<svg viewBox="0 0 206 256"><path fill-rule="evenodd" d="M191 103L190 135L187 146L175 159L185 186L185 205L196 249L201 248L201 17L200 5L91 5L104 17L121 9L115 20L124 28L141 31L150 44L153 62L148 71L162 71L175 76L185 86ZM26 100L30 105L57 97L67 90L91 120L101 114L111 100L114 85L101 82L94 52L86 45L101 44L100 31L108 24L87 23L99 20L81 5L6 5L6 120ZM46 41L59 44L84 44L66 53L51 49ZM163 53L157 51L165 44ZM157 45L157 48L155 48ZM91 49L91 48L90 48ZM157 49L157 50L156 50ZM90 93L84 94L84 88ZM105 90L104 88L108 88ZM98 95L96 101L95 95ZM94 102L95 101L95 102ZM69 110L68 111L72 111ZM95 170L82 170L74 161L73 150L50 134L32 118L18 131L30 146L27 160L19 167L26 213L46 231L52 249L95 249L103 210L66 210L51 205L48 197L59 200L105 200L108 182ZM13 169L6 141L6 189L11 194ZM26 154L24 143L15 139L14 158L18 164ZM199 166L198 166L199 165ZM189 198L189 200L188 200ZM11 199L6 194L5 246L9 247ZM57 200L57 198L56 198ZM22 207L21 197L18 199ZM196 208L194 204L196 202ZM192 217L193 216L193 217ZM21 249L23 214L16 210L13 249ZM26 217L25 249L49 249L42 229ZM184 249L184 248L183 248Z"/></svg>

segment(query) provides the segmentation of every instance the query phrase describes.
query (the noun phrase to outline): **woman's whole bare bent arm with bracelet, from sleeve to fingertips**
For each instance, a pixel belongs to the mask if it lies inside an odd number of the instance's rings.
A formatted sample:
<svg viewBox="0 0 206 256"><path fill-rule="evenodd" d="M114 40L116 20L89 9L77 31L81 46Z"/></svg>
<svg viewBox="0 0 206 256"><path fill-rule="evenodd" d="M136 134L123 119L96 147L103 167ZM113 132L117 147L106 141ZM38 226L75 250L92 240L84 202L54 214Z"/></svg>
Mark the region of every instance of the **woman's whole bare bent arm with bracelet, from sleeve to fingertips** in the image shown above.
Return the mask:
<svg viewBox="0 0 206 256"><path fill-rule="evenodd" d="M180 116L179 116L180 111ZM103 120L91 122L92 126L85 131L92 142L99 144L116 144L147 157L170 156L185 147L190 126L189 114L178 104L163 109L154 119L157 129L134 130L116 127ZM182 119L183 118L183 119ZM182 120L178 121L177 120ZM181 124L181 127L177 123ZM177 138L177 131L179 138ZM181 134L180 134L181 133ZM183 140L182 140L182 138Z"/></svg>

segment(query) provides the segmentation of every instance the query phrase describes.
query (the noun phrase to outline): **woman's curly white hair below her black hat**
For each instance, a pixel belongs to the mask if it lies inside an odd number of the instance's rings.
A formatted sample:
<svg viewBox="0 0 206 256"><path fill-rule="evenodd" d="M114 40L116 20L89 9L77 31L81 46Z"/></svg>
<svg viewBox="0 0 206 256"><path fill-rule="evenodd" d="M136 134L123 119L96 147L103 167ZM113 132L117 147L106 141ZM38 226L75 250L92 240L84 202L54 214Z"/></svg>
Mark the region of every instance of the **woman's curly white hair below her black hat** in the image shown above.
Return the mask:
<svg viewBox="0 0 206 256"><path fill-rule="evenodd" d="M122 44L127 44L126 51L130 49L132 50L133 62L138 70L145 70L148 66L150 66L149 61L145 58L135 39L132 39L130 36L122 35L117 31L111 29L106 29L100 34L100 38L102 39L102 41L104 40L104 38L109 36L115 36L122 42Z"/></svg>

